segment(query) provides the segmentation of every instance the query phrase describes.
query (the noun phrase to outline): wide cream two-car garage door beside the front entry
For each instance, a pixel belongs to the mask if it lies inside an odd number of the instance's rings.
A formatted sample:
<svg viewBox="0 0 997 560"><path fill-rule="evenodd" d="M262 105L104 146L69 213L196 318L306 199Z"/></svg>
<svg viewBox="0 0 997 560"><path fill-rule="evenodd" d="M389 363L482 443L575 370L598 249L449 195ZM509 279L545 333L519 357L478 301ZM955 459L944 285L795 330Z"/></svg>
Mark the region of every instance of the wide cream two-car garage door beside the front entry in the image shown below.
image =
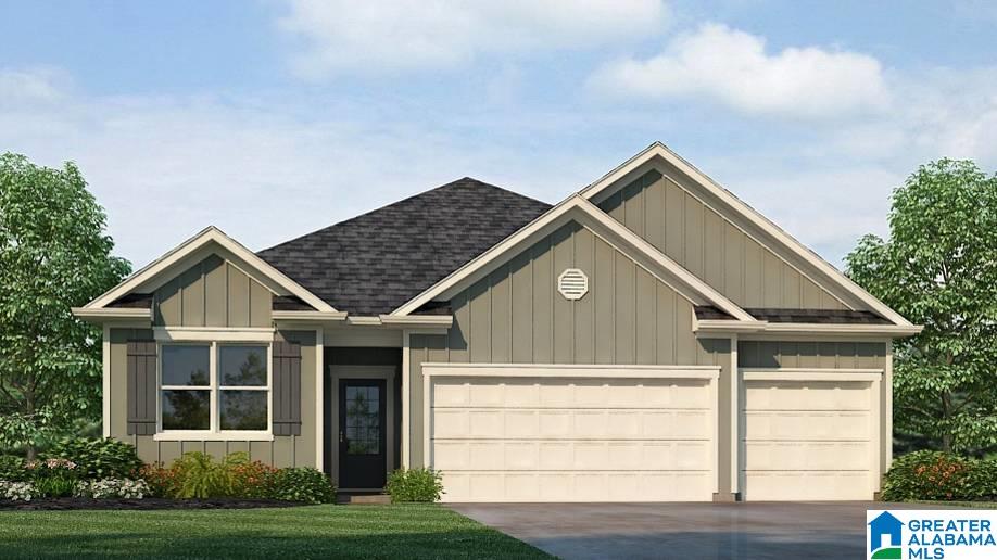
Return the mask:
<svg viewBox="0 0 997 560"><path fill-rule="evenodd" d="M424 369L444 500L711 499L716 370L541 369Z"/></svg>

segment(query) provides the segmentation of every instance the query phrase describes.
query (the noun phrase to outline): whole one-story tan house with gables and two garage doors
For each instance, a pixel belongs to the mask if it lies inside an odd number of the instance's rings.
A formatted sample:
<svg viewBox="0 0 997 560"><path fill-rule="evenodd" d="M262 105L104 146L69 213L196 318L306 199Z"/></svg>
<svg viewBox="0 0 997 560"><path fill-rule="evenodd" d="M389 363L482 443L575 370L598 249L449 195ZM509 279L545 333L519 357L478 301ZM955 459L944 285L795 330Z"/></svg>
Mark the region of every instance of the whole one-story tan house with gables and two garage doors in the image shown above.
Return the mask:
<svg viewBox="0 0 997 560"><path fill-rule="evenodd" d="M460 179L88 305L104 435L453 501L870 499L911 324L654 143L560 203Z"/></svg>

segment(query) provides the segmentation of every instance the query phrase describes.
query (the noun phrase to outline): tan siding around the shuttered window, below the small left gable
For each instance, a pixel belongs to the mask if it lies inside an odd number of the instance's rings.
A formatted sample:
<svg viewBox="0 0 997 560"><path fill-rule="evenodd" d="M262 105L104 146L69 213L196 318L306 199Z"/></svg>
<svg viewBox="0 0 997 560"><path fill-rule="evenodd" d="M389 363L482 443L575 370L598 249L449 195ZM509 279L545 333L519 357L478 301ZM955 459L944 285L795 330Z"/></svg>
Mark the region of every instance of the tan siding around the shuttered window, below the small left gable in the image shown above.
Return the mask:
<svg viewBox="0 0 997 560"><path fill-rule="evenodd" d="M316 464L315 410L316 345L314 331L279 331L278 340L301 344L301 435L274 436L273 442L231 441L155 441L152 435L129 435L127 429L128 341L152 340L151 329L111 329L111 437L136 446L144 462L169 464L186 451L209 453L220 459L226 454L245 451L252 460L274 467L314 467Z"/></svg>

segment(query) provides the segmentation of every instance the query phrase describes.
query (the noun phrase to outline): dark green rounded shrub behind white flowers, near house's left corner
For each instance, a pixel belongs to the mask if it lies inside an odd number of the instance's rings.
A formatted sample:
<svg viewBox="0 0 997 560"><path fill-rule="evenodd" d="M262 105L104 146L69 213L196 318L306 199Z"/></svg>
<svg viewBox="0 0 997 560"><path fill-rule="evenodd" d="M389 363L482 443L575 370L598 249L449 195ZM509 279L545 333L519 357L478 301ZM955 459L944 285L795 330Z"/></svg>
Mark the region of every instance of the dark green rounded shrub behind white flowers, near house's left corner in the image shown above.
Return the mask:
<svg viewBox="0 0 997 560"><path fill-rule="evenodd" d="M110 437L62 440L46 455L75 462L84 479L124 479L142 467L134 445Z"/></svg>

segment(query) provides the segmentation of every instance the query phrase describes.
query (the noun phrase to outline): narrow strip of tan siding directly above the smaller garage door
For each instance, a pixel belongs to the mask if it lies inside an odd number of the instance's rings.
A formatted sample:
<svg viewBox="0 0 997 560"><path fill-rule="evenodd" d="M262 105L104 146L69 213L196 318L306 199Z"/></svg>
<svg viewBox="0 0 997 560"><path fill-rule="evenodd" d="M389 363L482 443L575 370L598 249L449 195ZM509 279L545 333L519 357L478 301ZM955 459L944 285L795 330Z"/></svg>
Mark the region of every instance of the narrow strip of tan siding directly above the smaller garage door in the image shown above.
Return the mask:
<svg viewBox="0 0 997 560"><path fill-rule="evenodd" d="M880 342L741 341L742 368L868 368L886 367L886 345Z"/></svg>

